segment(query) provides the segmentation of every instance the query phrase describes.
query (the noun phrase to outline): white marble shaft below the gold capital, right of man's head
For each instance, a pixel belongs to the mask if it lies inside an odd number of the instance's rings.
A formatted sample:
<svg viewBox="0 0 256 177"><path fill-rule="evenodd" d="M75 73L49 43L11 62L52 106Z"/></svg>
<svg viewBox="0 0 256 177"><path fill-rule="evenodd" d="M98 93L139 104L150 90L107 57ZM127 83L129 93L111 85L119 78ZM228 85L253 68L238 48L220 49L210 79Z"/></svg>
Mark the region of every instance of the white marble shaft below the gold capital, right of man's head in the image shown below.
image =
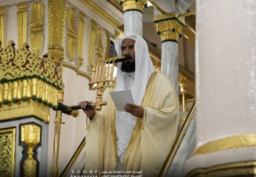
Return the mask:
<svg viewBox="0 0 256 177"><path fill-rule="evenodd" d="M178 43L172 41L162 42L161 53L161 72L163 72L163 74L167 75L167 77L170 78L170 81L172 81L172 84L178 95Z"/></svg>

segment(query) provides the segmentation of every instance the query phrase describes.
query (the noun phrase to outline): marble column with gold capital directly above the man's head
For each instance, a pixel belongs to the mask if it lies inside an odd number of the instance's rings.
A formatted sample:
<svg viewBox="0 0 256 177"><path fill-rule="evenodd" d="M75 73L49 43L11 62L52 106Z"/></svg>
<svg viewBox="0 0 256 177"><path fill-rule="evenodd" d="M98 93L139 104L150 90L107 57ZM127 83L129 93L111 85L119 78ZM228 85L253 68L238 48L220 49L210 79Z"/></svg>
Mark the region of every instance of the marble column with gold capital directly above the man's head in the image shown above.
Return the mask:
<svg viewBox="0 0 256 177"><path fill-rule="evenodd" d="M142 13L143 7L147 4L146 0L123 0L119 1L120 4L123 5L124 12L124 31L125 34L136 33L140 36L143 36L143 28L142 28Z"/></svg>

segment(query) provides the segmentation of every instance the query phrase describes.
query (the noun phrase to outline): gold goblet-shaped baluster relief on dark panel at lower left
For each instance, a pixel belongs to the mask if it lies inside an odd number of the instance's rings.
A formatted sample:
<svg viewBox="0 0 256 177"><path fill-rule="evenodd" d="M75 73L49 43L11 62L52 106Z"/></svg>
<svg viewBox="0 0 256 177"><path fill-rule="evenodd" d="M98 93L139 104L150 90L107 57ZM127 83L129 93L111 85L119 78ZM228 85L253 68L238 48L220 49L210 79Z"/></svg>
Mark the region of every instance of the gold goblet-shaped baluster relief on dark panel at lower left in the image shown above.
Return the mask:
<svg viewBox="0 0 256 177"><path fill-rule="evenodd" d="M21 126L21 141L28 148L28 156L23 164L24 176L36 176L37 161L33 158L33 148L40 142L40 126L35 124Z"/></svg>

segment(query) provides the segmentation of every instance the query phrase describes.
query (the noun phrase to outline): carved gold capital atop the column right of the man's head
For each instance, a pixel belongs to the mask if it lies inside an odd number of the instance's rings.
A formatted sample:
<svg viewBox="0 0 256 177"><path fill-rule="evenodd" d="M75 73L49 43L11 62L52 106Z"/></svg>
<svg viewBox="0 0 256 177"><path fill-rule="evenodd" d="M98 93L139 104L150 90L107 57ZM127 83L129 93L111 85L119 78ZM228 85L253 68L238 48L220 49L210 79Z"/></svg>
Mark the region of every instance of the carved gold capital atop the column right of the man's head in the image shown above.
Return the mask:
<svg viewBox="0 0 256 177"><path fill-rule="evenodd" d="M155 16L153 21L156 23L157 34L161 35L161 42L178 42L178 38L182 36L183 24L176 14Z"/></svg>

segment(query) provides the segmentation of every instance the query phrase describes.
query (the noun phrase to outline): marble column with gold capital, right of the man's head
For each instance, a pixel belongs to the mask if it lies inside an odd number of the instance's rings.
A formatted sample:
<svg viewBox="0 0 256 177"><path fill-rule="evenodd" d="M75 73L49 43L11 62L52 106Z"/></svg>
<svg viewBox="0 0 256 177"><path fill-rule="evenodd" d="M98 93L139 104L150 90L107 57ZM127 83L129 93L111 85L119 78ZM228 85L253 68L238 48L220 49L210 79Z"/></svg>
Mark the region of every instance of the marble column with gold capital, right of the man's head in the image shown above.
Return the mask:
<svg viewBox="0 0 256 177"><path fill-rule="evenodd" d="M154 17L157 33L161 35L162 42L162 72L170 78L177 95L178 85L178 38L182 35L182 23L176 14L167 14Z"/></svg>

